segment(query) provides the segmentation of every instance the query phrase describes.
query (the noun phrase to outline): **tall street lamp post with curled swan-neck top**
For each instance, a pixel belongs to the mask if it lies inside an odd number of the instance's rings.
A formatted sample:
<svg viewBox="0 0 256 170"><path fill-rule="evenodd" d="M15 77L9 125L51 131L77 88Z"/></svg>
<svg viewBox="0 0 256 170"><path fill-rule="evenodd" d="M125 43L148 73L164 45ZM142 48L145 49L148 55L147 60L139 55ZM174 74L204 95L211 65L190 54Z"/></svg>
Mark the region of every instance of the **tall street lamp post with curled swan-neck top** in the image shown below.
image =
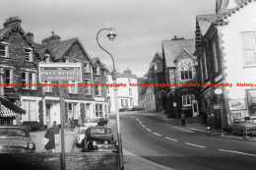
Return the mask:
<svg viewBox="0 0 256 170"><path fill-rule="evenodd" d="M98 32L96 33L96 42L97 45L103 50L105 51L112 59L112 63L113 63L113 72L112 72L112 80L114 84L117 84L117 73L115 70L115 65L114 65L114 59L112 57L112 55L106 51L98 42L98 34L100 31L102 30L109 30L109 33L106 35L108 37L108 39L110 41L113 41L116 34L113 33L113 28L101 28L100 30L98 30ZM116 115L116 129L117 129L117 141L118 141L118 169L123 170L124 169L124 164L123 164L123 149L122 149L122 138L121 138L121 133L120 133L120 120L119 120L119 111L118 111L118 98L117 98L117 86L114 86L114 100L115 100L115 115Z"/></svg>

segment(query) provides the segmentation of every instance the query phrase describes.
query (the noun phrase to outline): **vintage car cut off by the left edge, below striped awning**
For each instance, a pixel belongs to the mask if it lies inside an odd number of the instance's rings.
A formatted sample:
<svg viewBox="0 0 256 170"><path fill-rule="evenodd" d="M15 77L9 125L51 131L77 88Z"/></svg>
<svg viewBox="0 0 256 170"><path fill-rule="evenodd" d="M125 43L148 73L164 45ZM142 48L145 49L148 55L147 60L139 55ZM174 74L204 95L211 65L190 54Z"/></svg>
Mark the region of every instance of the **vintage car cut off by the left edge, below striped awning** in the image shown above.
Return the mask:
<svg viewBox="0 0 256 170"><path fill-rule="evenodd" d="M33 153L30 130L23 126L0 126L0 153Z"/></svg>

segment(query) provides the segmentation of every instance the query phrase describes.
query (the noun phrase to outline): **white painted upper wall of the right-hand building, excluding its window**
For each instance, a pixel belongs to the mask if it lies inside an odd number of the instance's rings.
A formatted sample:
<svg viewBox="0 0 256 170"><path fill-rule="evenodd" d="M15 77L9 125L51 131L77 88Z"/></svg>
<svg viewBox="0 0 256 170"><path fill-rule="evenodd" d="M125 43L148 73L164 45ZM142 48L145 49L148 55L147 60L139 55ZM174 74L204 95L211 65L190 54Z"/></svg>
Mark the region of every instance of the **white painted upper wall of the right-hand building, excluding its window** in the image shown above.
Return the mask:
<svg viewBox="0 0 256 170"><path fill-rule="evenodd" d="M220 27L219 31L224 34L224 60L227 74L226 83L232 84L228 87L228 98L246 98L245 89L251 87L236 86L236 83L256 84L256 67L243 67L243 53L240 32L256 31L256 2L252 1L248 6L241 8L227 18L229 24ZM227 88L227 87L226 87ZM254 87L255 88L255 87ZM248 116L248 110L237 111L242 117ZM234 113L234 112L233 112Z"/></svg>

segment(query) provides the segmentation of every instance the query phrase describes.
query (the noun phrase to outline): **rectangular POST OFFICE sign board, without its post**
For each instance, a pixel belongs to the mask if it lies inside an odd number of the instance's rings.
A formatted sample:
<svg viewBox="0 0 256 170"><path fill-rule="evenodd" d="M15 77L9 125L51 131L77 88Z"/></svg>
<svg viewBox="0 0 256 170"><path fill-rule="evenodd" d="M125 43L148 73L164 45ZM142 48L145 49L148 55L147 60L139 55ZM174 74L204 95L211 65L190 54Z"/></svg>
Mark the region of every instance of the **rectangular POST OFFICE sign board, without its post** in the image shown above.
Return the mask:
<svg viewBox="0 0 256 170"><path fill-rule="evenodd" d="M76 81L82 83L81 63L39 63L39 82Z"/></svg>

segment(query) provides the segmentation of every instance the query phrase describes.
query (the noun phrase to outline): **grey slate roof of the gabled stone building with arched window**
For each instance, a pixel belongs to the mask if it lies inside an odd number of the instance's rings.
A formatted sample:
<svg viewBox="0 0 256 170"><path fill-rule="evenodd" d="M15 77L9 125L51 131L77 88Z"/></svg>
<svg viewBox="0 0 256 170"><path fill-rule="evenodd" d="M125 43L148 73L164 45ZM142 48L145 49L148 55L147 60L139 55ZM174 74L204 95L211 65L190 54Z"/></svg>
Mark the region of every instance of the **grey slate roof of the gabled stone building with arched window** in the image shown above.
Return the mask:
<svg viewBox="0 0 256 170"><path fill-rule="evenodd" d="M193 54L195 50L194 39L164 40L161 45L166 67L176 67L174 60L183 49L186 49L190 54Z"/></svg>

